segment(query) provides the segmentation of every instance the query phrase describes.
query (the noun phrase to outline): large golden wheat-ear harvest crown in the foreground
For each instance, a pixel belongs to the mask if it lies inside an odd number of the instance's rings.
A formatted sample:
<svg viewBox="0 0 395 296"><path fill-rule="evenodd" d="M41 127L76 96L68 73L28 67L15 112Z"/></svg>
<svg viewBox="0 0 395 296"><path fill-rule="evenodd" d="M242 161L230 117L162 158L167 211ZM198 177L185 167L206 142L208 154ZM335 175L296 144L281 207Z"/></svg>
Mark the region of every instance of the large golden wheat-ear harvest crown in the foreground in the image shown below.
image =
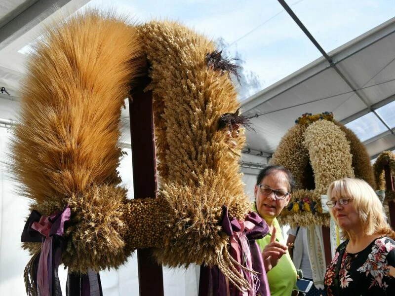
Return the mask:
<svg viewBox="0 0 395 296"><path fill-rule="evenodd" d="M77 34L74 40L71 32ZM158 263L217 266L236 289L251 290L255 275L244 266L246 257L242 261L232 257L230 235L221 225L226 217L222 206L229 210L227 218L237 221L250 210L238 162L245 143L244 129L239 127L248 127L248 118L239 115L232 81L219 76L225 71L236 74L238 66L222 59L213 42L178 23L153 21L129 27L100 13L76 16L54 27L42 44L29 64L23 92L23 110L37 112L22 115L24 120L16 127L13 154L24 157L15 158L14 171L24 184L22 194L35 201L32 211L50 216L68 204L71 214L62 263L78 274L99 271L117 268L137 248L152 248ZM95 67L86 67L84 54L89 52L99 53ZM207 52L212 54L206 63ZM72 68L78 71L70 71L67 63L48 67L56 64L58 53L75 62ZM157 198L128 200L117 172L122 156L120 108L130 92L130 80L142 74L145 56L160 186ZM105 71L110 64L111 71ZM185 78L181 83L180 76ZM56 87L37 92L37 99L29 90L40 89L48 79ZM64 88L66 80L77 82ZM134 87L142 87L133 81ZM92 95L85 95L86 85ZM108 87L116 89L115 94ZM44 122L42 106L53 112ZM64 110L72 121L63 120ZM225 130L217 133L221 114ZM99 117L102 120L97 121ZM82 149L75 148L75 139ZM100 149L94 145L98 142ZM33 255L41 244L26 241L24 247ZM25 272L28 293L30 266Z"/></svg>

